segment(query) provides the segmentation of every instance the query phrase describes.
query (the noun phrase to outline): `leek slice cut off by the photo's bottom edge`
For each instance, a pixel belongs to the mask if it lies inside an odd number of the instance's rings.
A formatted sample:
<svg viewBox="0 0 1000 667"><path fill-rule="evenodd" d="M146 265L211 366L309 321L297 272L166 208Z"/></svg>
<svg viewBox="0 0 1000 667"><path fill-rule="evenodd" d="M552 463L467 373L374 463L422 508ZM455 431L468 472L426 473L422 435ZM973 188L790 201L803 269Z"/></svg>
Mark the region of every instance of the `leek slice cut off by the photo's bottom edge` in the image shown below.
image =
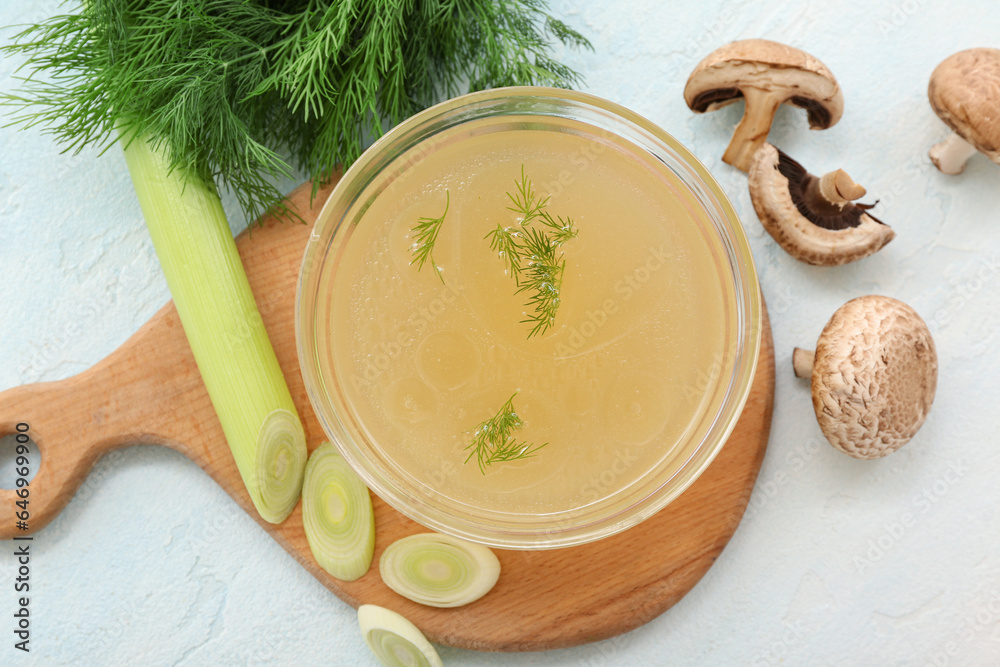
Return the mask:
<svg viewBox="0 0 1000 667"><path fill-rule="evenodd" d="M441 658L417 626L373 604L358 607L365 643L386 667L442 667Z"/></svg>

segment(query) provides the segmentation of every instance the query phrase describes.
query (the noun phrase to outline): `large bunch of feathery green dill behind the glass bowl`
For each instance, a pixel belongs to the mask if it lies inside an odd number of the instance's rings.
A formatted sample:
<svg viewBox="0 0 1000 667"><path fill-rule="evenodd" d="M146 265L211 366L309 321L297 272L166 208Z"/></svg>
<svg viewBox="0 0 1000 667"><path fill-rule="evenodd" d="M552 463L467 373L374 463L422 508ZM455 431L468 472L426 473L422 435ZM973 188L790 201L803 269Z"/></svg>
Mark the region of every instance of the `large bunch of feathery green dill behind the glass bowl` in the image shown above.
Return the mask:
<svg viewBox="0 0 1000 667"><path fill-rule="evenodd" d="M14 121L67 149L148 137L171 168L230 188L247 220L292 167L318 187L371 136L444 96L569 87L541 0L87 0L0 48L27 58Z"/></svg>

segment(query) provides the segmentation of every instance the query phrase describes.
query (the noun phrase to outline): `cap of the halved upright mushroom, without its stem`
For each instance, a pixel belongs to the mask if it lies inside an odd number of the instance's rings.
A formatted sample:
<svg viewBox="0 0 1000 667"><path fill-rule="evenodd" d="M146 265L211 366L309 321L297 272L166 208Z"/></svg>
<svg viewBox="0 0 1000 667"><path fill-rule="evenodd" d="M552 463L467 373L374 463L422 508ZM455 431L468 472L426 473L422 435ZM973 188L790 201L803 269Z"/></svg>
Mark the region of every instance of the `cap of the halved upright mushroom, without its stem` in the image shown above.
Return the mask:
<svg viewBox="0 0 1000 667"><path fill-rule="evenodd" d="M813 129L830 127L844 113L844 94L826 65L767 39L743 39L708 54L688 77L684 100L696 113L714 111L742 98L744 87L784 96L808 112Z"/></svg>

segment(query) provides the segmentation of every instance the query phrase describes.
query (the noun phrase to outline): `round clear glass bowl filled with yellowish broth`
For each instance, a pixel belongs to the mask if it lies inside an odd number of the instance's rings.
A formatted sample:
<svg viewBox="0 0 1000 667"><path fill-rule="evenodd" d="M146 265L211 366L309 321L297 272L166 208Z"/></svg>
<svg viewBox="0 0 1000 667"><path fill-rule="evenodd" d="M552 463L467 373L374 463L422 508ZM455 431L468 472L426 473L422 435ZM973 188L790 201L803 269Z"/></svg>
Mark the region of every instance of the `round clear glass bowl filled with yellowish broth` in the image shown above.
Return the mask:
<svg viewBox="0 0 1000 667"><path fill-rule="evenodd" d="M515 340L502 336L524 325L504 315L504 299L513 297L495 289L506 274L482 225L495 217L507 221L501 227L512 224L506 209L514 200L496 197L509 183L516 199L517 163L526 178L531 160L536 202L551 196L553 212L575 208L579 235L565 244L565 288L551 330ZM476 180L477 170L497 169L511 176L504 187ZM595 192L593 201L581 198ZM477 209L485 200L492 208ZM644 212L661 204L676 213ZM639 213L625 213L633 209ZM622 214L611 220L605 210ZM438 257L411 264L417 220L442 212ZM636 255L626 244L641 244L644 234L671 243ZM633 256L634 270L622 260ZM701 273L682 274L695 259ZM661 266L667 271L650 277ZM622 279L612 289L601 275ZM485 305L491 289L499 306ZM610 296L585 298L586 290ZM472 324L459 319L465 311ZM444 324L452 314L455 323ZM663 342L667 330L695 352ZM680 495L732 432L760 337L750 248L708 170L619 105L541 87L458 97L375 142L319 214L296 301L309 398L369 488L428 528L512 549L612 535ZM498 378L508 367L541 369L541 379L505 385ZM603 374L589 377L591 367ZM562 384L545 384L556 376ZM531 458L477 469L465 448L491 416L483 406L511 395L524 428L513 435L527 439L534 426L545 446Z"/></svg>

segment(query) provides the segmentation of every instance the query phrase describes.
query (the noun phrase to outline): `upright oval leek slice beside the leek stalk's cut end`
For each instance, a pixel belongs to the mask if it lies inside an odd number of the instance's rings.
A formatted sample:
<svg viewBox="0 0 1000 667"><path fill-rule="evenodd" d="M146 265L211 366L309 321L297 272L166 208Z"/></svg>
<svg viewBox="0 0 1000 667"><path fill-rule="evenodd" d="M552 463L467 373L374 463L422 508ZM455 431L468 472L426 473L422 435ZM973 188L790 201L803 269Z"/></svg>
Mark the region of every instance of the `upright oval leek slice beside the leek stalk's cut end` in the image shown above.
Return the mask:
<svg viewBox="0 0 1000 667"><path fill-rule="evenodd" d="M302 483L302 525L319 566L343 581L362 577L375 552L368 487L329 442L316 448Z"/></svg>

